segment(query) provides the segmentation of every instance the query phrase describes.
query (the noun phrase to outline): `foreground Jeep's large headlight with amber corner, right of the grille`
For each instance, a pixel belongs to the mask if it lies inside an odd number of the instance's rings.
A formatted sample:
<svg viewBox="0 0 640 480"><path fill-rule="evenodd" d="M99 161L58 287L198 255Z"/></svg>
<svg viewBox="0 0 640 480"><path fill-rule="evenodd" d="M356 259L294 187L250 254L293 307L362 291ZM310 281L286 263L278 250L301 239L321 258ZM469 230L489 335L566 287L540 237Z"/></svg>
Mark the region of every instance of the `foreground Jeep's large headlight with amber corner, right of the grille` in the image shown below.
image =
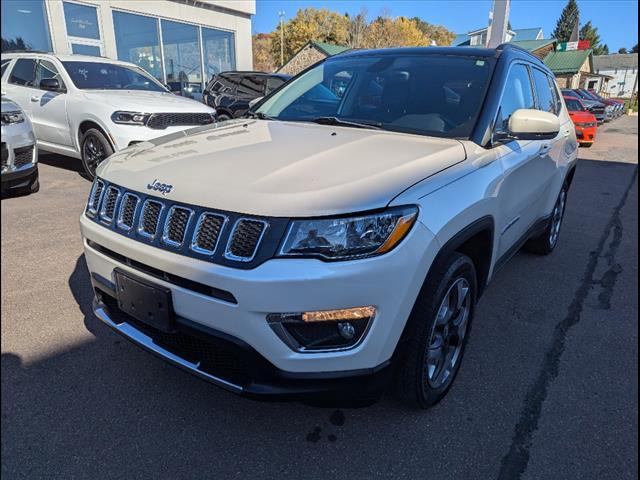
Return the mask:
<svg viewBox="0 0 640 480"><path fill-rule="evenodd" d="M294 220L280 256L351 260L392 250L418 217L415 206L344 218Z"/></svg>

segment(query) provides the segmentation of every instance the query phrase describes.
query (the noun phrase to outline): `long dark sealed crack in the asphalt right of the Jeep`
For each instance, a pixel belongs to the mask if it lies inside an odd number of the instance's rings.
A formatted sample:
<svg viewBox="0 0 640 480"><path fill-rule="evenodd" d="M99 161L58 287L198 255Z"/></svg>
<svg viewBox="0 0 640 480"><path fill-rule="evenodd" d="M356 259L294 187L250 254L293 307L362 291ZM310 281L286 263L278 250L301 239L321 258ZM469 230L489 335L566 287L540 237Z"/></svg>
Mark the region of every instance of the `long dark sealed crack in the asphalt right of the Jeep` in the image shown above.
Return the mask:
<svg viewBox="0 0 640 480"><path fill-rule="evenodd" d="M602 236L598 240L596 249L590 253L590 258L587 262L587 267L582 277L582 281L580 282L573 300L569 305L567 315L555 327L553 341L545 353L542 368L538 372L535 381L525 396L520 417L511 439L509 451L504 457L502 457L500 472L498 474L499 480L520 479L527 469L527 465L529 464L531 440L534 432L538 428L538 421L540 420L542 407L547 398L549 386L558 376L560 358L564 352L567 335L569 330L580 321L584 302L589 295L589 291L596 284L601 284L603 287L601 295L609 292L608 296L605 295L603 298L600 298L600 305L608 305L608 301L615 285L615 277L612 279L611 274L609 274L608 277L607 274L609 271L613 271L614 273L616 271L619 273L620 271L620 268L616 268L617 264L614 262L614 257L620 247L620 239L622 238L620 211L627 202L627 197L633 188L637 176L638 167L635 168L631 182L625 189L620 202L614 208L609 222L607 223ZM609 238L612 238L612 240L607 245L607 240L609 240ZM607 246L608 249L603 254L604 249ZM594 274L598 267L598 259L601 256L606 258L610 268L608 272L605 273L605 277L607 278L596 279L594 278ZM617 276L617 273L615 273L615 276Z"/></svg>

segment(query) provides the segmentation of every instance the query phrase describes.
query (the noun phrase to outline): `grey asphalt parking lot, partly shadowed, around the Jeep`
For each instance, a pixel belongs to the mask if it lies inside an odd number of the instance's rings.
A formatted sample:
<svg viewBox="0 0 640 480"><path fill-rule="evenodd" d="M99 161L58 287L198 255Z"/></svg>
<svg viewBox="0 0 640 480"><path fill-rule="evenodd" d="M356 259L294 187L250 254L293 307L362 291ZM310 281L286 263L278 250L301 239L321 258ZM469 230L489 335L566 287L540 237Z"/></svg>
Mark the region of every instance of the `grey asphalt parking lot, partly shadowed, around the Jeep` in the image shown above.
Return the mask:
<svg viewBox="0 0 640 480"><path fill-rule="evenodd" d="M3 478L636 478L638 117L580 153L558 248L499 272L426 412L246 400L122 340L91 312L90 183L41 156L2 200Z"/></svg>

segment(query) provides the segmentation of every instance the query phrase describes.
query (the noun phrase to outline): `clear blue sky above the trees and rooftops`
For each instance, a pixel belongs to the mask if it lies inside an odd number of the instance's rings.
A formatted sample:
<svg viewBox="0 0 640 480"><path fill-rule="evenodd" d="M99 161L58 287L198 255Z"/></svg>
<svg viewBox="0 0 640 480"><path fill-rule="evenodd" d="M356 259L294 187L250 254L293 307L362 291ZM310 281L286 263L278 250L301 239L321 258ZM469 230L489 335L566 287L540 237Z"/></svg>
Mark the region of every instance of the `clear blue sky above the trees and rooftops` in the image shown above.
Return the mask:
<svg viewBox="0 0 640 480"><path fill-rule="evenodd" d="M511 26L542 27L545 38L549 38L566 3L566 0L512 0ZM364 7L370 19L387 10L394 17L418 16L455 33L465 33L487 25L491 4L491 0L256 0L252 28L253 33L271 32L278 24L279 11L284 11L288 20L300 8L357 14ZM578 6L580 24L591 20L612 53L638 43L637 0L578 0Z"/></svg>

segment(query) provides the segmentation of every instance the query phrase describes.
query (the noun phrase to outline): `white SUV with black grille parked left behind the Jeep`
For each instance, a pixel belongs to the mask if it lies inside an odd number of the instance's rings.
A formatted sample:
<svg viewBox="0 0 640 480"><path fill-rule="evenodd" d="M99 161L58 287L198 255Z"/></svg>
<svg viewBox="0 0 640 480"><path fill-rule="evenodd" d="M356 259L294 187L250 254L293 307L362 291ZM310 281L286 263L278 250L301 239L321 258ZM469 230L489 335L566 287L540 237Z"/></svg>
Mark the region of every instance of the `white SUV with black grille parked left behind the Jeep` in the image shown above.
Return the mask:
<svg viewBox="0 0 640 480"><path fill-rule="evenodd" d="M82 55L3 54L2 92L29 116L42 150L81 159L90 177L113 152L215 113L132 63Z"/></svg>

